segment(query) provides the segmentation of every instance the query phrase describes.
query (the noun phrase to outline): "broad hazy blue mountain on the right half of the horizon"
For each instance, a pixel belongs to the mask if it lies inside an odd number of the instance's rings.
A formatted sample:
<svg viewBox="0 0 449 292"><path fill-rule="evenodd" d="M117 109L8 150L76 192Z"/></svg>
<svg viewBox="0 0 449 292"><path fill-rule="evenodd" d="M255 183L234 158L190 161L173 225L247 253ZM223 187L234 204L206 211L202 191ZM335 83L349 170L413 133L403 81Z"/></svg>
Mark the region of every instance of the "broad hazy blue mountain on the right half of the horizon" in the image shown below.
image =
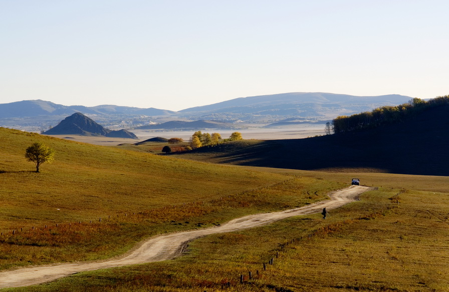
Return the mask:
<svg viewBox="0 0 449 292"><path fill-rule="evenodd" d="M220 117L241 120L266 119L267 117L308 117L326 119L330 115L348 115L372 110L379 106L398 105L411 97L402 95L352 96L333 93L292 92L273 95L236 98L206 106L180 111L196 118Z"/></svg>

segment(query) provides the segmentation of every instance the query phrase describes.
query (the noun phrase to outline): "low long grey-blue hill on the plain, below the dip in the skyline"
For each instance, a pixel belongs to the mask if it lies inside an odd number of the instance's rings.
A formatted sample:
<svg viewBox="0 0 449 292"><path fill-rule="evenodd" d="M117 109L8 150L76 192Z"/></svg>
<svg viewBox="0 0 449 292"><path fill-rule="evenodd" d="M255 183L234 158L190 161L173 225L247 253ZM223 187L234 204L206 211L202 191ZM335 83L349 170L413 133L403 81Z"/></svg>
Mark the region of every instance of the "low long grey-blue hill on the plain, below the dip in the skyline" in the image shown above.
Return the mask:
<svg viewBox="0 0 449 292"><path fill-rule="evenodd" d="M218 121L206 121L199 120L193 122L185 122L185 121L170 121L162 124L155 125L146 125L138 127L137 129L178 129L178 130L191 130L191 129L233 129L236 125L232 123L226 122L218 122Z"/></svg>

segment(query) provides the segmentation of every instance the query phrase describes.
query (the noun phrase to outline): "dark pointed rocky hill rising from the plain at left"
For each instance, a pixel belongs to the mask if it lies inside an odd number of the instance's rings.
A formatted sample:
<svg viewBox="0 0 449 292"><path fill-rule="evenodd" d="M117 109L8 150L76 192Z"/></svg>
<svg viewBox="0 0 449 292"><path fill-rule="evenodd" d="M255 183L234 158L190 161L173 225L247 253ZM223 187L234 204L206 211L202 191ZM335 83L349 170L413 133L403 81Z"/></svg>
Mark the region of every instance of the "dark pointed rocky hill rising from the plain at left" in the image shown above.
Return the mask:
<svg viewBox="0 0 449 292"><path fill-rule="evenodd" d="M86 117L82 113L74 113L73 115L62 120L56 127L44 132L46 135L67 135L76 134L83 136L100 135L115 138L132 138L137 136L126 130L112 131L104 128L91 118Z"/></svg>

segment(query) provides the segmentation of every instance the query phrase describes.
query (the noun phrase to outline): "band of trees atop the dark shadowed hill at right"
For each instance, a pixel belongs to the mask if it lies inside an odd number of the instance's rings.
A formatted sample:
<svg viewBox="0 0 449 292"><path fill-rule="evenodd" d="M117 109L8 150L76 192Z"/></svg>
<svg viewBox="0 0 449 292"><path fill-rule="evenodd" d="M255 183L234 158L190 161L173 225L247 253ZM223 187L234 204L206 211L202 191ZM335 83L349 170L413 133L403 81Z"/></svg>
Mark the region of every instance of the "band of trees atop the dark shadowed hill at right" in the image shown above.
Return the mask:
<svg viewBox="0 0 449 292"><path fill-rule="evenodd" d="M431 107L449 105L449 95L439 96L429 101L413 98L408 103L398 106L384 106L371 112L363 112L351 116L339 116L332 121L332 130L335 134L360 129L378 127L380 125L403 121L417 113ZM326 132L330 133L328 128Z"/></svg>

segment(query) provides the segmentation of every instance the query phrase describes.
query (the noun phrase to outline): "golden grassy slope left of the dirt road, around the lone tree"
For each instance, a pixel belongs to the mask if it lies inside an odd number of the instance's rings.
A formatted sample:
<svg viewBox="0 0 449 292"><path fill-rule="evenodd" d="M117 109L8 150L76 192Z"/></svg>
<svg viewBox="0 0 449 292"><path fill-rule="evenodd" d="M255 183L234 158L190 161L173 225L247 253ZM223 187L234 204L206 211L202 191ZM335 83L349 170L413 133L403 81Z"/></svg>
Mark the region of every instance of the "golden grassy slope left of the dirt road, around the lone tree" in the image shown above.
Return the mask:
<svg viewBox="0 0 449 292"><path fill-rule="evenodd" d="M4 128L0 141L0 268L106 258L156 233L310 203L342 185ZM40 173L24 157L37 141L56 151ZM285 180L320 195L273 187Z"/></svg>

